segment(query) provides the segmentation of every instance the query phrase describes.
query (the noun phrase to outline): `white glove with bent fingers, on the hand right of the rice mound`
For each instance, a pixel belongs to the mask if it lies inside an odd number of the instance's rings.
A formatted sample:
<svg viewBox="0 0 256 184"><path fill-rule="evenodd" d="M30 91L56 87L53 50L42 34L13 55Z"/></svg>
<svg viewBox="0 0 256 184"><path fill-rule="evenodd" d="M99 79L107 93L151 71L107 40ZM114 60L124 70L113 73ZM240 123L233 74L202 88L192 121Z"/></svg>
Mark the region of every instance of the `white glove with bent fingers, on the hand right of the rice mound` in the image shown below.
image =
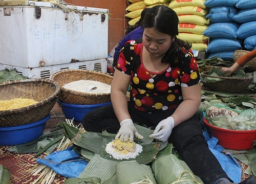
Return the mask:
<svg viewBox="0 0 256 184"><path fill-rule="evenodd" d="M165 142L168 140L170 133L172 133L173 128L174 119L172 117L168 117L158 123L158 125L155 128L155 131L153 132L153 134L150 135L150 137L153 137L158 141Z"/></svg>

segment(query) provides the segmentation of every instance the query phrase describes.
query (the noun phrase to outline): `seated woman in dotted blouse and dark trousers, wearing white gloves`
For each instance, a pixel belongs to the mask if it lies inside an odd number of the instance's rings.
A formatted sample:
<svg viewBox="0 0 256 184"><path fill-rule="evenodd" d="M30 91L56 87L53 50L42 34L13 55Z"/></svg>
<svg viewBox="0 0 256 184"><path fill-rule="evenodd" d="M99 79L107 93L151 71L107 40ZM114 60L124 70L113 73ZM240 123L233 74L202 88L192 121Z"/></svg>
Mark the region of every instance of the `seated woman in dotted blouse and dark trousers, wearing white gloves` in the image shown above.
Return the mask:
<svg viewBox="0 0 256 184"><path fill-rule="evenodd" d="M116 139L123 141L133 141L134 135L142 139L134 122L145 125L154 129L154 139L173 143L204 183L228 184L231 180L209 150L196 116L201 102L198 65L191 45L177 38L178 22L177 14L165 6L146 12L142 43L128 41L120 53L112 105L87 113L82 124L87 131L117 133Z"/></svg>

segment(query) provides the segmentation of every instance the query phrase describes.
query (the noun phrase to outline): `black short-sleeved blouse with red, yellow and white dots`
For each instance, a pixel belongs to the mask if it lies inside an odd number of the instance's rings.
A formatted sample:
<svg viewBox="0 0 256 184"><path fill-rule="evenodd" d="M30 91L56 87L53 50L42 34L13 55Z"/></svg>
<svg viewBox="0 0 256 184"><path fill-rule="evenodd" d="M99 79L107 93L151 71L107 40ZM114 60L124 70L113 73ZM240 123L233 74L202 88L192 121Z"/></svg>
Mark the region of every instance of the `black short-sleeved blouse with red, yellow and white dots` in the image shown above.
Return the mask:
<svg viewBox="0 0 256 184"><path fill-rule="evenodd" d="M183 50L184 58L178 66L168 66L163 72L154 73L142 64L142 48L143 43L128 41L117 62L117 70L131 75L131 103L148 113L177 107L182 102L181 86L192 86L200 81L193 52Z"/></svg>

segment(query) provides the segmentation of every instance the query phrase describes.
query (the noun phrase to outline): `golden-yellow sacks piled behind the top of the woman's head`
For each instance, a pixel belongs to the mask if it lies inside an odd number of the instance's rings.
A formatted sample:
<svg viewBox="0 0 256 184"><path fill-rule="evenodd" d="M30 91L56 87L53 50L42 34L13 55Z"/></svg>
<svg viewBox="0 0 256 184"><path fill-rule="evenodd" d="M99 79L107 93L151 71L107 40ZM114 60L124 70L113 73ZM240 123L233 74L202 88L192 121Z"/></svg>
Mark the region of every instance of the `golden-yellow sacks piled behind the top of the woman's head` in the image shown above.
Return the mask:
<svg viewBox="0 0 256 184"><path fill-rule="evenodd" d="M143 9L151 8L156 5L168 6L170 0L129 0L130 5L125 9L125 17L129 18L128 24L133 26L140 19Z"/></svg>

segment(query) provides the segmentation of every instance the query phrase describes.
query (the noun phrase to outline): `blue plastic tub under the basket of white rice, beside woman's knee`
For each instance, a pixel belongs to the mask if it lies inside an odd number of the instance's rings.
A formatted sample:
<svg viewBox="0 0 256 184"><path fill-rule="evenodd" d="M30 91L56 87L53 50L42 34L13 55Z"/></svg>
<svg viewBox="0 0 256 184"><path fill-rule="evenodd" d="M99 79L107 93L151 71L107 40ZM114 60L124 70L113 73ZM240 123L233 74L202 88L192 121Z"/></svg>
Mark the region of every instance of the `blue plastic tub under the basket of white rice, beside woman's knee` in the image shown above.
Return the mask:
<svg viewBox="0 0 256 184"><path fill-rule="evenodd" d="M60 100L57 100L57 103L61 106L62 112L64 113L67 119L73 119L76 122L82 122L84 115L93 109L102 107L105 105L111 104L111 102L101 103L101 104L92 104L92 105L76 105L64 103Z"/></svg>

